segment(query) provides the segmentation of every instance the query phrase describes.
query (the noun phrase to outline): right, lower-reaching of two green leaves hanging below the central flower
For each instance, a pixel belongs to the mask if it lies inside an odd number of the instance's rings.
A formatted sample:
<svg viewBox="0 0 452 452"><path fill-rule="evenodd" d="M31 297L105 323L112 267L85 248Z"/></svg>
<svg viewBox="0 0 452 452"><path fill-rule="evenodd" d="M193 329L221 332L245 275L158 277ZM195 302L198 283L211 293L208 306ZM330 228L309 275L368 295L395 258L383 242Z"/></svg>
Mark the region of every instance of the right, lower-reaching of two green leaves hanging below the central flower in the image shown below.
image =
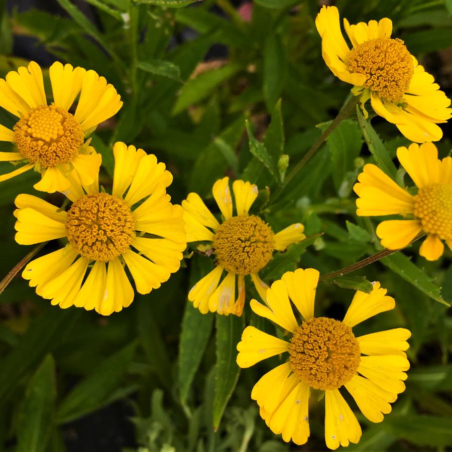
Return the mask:
<svg viewBox="0 0 452 452"><path fill-rule="evenodd" d="M218 429L224 409L239 379L237 344L245 328L244 316L216 316L216 366L213 429Z"/></svg>

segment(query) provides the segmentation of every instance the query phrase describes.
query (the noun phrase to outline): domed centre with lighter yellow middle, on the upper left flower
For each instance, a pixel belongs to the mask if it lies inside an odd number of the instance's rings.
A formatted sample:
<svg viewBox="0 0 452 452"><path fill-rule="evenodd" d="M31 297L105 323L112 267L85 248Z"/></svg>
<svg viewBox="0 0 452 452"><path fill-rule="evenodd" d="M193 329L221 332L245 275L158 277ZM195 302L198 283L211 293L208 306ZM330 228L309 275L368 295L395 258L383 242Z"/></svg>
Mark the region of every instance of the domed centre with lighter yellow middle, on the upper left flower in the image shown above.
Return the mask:
<svg viewBox="0 0 452 452"><path fill-rule="evenodd" d="M70 162L84 139L74 116L55 105L33 108L16 123L14 132L19 152L42 168Z"/></svg>

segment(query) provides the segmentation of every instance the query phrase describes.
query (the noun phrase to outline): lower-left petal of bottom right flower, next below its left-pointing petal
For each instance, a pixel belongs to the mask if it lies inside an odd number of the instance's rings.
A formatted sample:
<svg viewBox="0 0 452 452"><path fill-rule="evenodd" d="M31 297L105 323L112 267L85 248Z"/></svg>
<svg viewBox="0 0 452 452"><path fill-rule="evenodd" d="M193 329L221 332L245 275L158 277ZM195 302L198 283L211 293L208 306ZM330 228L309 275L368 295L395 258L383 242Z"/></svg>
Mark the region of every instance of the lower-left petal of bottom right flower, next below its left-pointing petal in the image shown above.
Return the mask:
<svg viewBox="0 0 452 452"><path fill-rule="evenodd" d="M281 392L291 372L290 363L280 364L267 372L254 385L251 398L266 411L273 413L281 403Z"/></svg>

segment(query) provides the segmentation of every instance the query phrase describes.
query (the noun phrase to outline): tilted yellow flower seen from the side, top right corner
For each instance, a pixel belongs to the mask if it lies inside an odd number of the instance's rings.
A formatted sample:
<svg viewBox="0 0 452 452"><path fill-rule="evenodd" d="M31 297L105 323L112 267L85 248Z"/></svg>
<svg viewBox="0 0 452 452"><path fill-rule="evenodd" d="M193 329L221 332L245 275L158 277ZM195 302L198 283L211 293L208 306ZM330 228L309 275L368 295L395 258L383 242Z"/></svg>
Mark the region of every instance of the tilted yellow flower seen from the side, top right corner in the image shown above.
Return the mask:
<svg viewBox="0 0 452 452"><path fill-rule="evenodd" d="M403 41L391 38L388 18L344 28L352 43L347 45L341 32L336 7L323 6L315 20L322 38L322 56L331 72L354 85L353 94L361 96L361 106L370 99L375 112L392 122L411 141L423 143L442 137L436 125L446 122L452 110L444 92L434 83L408 52Z"/></svg>

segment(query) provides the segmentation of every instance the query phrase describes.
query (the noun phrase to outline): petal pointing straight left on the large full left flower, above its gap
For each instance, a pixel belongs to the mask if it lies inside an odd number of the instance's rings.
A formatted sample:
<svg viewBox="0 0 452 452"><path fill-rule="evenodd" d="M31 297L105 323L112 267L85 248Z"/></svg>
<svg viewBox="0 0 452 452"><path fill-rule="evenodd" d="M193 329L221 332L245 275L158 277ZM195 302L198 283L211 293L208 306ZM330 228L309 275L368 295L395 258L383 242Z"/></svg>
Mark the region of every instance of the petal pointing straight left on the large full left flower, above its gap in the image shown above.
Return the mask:
<svg viewBox="0 0 452 452"><path fill-rule="evenodd" d="M30 207L16 213L16 242L21 245L34 245L47 240L66 237L64 223L52 220Z"/></svg>

